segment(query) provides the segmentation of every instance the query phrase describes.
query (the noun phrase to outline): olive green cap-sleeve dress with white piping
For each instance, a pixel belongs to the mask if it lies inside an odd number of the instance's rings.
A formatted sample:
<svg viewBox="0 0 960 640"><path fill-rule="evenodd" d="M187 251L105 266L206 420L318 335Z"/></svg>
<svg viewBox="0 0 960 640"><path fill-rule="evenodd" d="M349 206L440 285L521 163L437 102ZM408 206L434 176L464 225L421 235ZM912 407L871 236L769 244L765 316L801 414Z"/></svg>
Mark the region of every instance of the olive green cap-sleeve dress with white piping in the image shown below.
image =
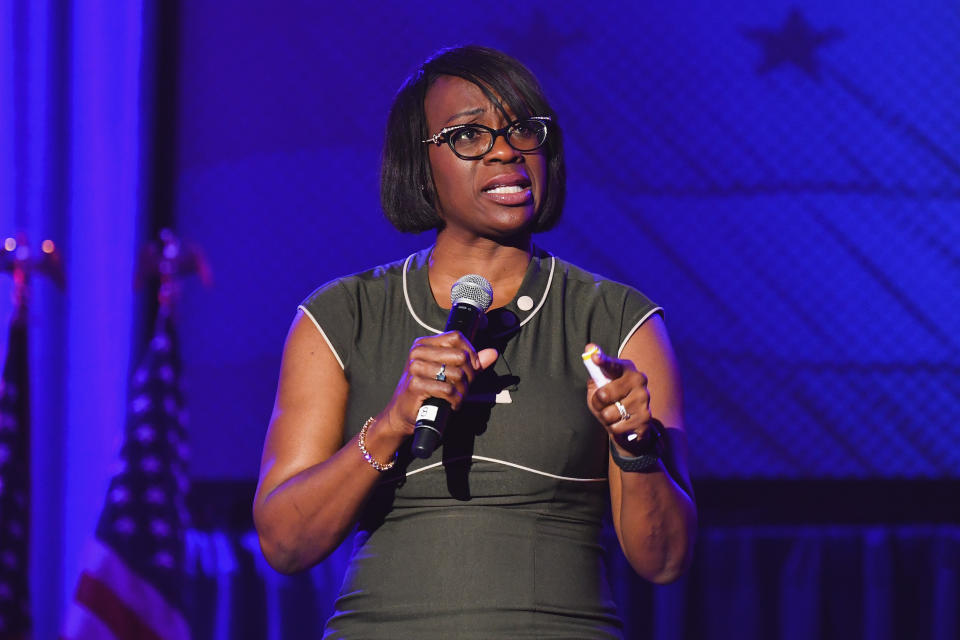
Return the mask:
<svg viewBox="0 0 960 640"><path fill-rule="evenodd" d="M301 306L350 383L345 439L386 406L414 339L443 330L429 251L330 282ZM514 299L487 314L475 346L501 356L442 446L427 460L402 447L365 506L324 637L620 637L599 543L607 438L580 354L588 342L618 353L660 311L538 251Z"/></svg>

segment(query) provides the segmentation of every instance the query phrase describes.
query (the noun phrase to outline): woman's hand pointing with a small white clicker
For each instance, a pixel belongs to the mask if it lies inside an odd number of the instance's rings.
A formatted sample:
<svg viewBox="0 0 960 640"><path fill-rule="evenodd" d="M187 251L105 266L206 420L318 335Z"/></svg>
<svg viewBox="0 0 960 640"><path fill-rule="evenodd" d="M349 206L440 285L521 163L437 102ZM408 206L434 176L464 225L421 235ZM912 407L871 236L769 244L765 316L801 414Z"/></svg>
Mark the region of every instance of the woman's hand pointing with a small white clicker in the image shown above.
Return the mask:
<svg viewBox="0 0 960 640"><path fill-rule="evenodd" d="M594 346L588 344L585 351ZM632 433L642 438L653 419L647 376L637 371L632 360L612 358L599 347L591 357L610 382L599 389L593 380L587 383L590 412L618 445L625 444Z"/></svg>

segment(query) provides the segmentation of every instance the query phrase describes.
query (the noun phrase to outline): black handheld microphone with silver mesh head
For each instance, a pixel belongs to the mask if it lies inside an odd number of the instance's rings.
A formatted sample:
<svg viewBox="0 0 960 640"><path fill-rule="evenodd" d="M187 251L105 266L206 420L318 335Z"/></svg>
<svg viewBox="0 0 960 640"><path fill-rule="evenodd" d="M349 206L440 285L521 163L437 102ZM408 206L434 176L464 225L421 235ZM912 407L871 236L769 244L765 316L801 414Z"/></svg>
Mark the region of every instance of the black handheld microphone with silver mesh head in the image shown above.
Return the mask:
<svg viewBox="0 0 960 640"><path fill-rule="evenodd" d="M450 315L444 331L459 331L473 342L483 314L493 302L493 287L487 279L478 275L466 275L453 283L450 289ZM417 413L413 430L413 455L429 458L443 437L443 429L450 416L450 403L442 398L427 398Z"/></svg>

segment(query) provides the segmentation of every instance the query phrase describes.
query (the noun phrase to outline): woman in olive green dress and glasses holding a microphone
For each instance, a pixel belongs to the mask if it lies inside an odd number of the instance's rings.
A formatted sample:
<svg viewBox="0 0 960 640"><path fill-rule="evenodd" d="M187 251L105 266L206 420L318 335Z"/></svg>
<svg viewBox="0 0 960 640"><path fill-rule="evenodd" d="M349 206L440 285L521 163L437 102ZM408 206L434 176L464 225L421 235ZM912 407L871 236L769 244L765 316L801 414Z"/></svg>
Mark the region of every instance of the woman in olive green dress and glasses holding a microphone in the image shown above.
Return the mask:
<svg viewBox="0 0 960 640"><path fill-rule="evenodd" d="M556 117L509 56L441 51L398 92L384 210L436 243L300 307L254 504L284 572L357 527L326 637L619 637L598 544L608 499L637 573L669 582L689 563L696 510L660 309L534 246L564 179ZM493 289L473 345L442 331L464 274ZM600 388L581 359L593 344L618 354L592 356ZM410 435L429 397L453 413L421 460Z"/></svg>

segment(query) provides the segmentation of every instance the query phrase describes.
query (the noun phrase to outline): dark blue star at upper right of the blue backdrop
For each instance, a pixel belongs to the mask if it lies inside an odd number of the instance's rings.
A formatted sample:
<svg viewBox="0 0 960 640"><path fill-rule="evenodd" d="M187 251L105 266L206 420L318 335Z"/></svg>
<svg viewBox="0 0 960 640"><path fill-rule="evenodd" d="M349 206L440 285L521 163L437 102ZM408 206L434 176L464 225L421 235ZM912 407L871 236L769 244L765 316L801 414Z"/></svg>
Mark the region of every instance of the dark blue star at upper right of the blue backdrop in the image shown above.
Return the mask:
<svg viewBox="0 0 960 640"><path fill-rule="evenodd" d="M743 35L763 47L763 60L757 73L767 73L785 64L792 64L811 78L820 78L817 50L843 37L841 29L814 29L799 9L790 15L779 29L761 27L742 29Z"/></svg>

